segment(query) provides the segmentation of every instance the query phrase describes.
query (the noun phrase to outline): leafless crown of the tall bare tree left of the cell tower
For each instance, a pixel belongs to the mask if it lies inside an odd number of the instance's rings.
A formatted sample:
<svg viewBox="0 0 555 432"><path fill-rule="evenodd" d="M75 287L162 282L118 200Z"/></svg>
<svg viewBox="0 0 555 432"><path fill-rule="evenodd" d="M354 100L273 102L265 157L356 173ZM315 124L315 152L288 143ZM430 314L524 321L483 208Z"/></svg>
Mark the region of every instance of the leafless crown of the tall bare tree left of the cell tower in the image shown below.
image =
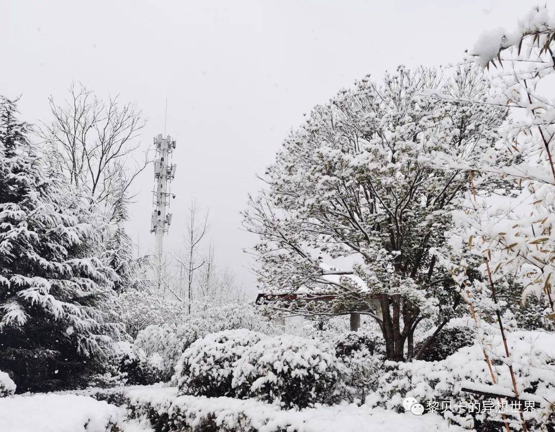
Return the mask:
<svg viewBox="0 0 555 432"><path fill-rule="evenodd" d="M53 120L43 123L40 134L51 164L108 209L128 201L130 185L149 163L148 152L135 159L145 125L142 112L133 103L120 103L118 96L103 101L74 83L63 104L53 96L49 103Z"/></svg>

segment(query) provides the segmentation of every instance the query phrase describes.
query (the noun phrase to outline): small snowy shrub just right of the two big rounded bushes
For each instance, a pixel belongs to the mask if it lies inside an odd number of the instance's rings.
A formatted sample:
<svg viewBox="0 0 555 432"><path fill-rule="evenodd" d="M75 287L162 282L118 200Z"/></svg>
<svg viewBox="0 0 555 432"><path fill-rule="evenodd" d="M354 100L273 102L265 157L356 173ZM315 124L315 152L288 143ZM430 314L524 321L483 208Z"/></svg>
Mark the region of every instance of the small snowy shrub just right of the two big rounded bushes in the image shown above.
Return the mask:
<svg viewBox="0 0 555 432"><path fill-rule="evenodd" d="M335 339L335 354L344 365L341 380L345 383L345 396L364 403L366 394L376 389L384 369L385 342L380 333L350 332Z"/></svg>

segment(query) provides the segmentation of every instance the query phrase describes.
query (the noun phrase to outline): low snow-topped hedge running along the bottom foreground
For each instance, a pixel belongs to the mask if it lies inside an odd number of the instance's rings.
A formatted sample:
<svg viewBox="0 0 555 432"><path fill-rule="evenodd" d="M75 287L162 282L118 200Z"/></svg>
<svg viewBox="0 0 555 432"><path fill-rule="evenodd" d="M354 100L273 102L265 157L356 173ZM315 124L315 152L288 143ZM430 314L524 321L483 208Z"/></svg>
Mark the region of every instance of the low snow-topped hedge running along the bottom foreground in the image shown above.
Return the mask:
<svg viewBox="0 0 555 432"><path fill-rule="evenodd" d="M176 395L175 388L138 388L128 392L137 419L148 418L157 430L210 432L463 432L437 414L398 414L356 404L318 405L301 410L254 399Z"/></svg>

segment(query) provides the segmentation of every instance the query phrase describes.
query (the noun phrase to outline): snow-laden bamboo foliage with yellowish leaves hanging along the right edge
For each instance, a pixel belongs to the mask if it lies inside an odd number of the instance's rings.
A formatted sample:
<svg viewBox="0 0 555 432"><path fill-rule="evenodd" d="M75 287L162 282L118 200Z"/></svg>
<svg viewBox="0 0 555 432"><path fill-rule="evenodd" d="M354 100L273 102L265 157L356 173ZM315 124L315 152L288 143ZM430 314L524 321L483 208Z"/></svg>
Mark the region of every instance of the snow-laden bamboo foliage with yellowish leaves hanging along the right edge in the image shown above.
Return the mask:
<svg viewBox="0 0 555 432"><path fill-rule="evenodd" d="M523 298L532 292L546 297L553 317L555 108L549 89L555 72L554 35L553 14L547 6L534 7L515 31L488 31L473 49L477 63L487 66L493 79L490 102L507 106L511 121L501 130L503 143L497 151L470 169L512 179L520 195L501 205L468 197L470 210L456 217L463 241L489 261L494 282L518 275Z"/></svg>

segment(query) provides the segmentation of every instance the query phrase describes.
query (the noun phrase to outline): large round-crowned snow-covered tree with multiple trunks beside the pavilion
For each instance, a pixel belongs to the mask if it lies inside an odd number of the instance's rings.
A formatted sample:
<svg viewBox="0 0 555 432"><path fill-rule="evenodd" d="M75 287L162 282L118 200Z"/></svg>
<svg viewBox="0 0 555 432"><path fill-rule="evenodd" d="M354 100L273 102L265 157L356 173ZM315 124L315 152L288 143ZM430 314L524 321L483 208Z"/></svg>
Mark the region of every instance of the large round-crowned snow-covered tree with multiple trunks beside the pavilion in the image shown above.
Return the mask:
<svg viewBox="0 0 555 432"><path fill-rule="evenodd" d="M431 69L399 67L381 84L365 77L316 106L245 212L246 229L260 237L254 252L265 291L336 296L317 310L297 304L296 314L365 305L387 358L412 358L422 319L441 326L460 302L435 251L448 246L451 211L470 174L443 169L436 154L468 161L490 151L505 111L465 102L485 99L487 89L471 68L440 80Z"/></svg>

